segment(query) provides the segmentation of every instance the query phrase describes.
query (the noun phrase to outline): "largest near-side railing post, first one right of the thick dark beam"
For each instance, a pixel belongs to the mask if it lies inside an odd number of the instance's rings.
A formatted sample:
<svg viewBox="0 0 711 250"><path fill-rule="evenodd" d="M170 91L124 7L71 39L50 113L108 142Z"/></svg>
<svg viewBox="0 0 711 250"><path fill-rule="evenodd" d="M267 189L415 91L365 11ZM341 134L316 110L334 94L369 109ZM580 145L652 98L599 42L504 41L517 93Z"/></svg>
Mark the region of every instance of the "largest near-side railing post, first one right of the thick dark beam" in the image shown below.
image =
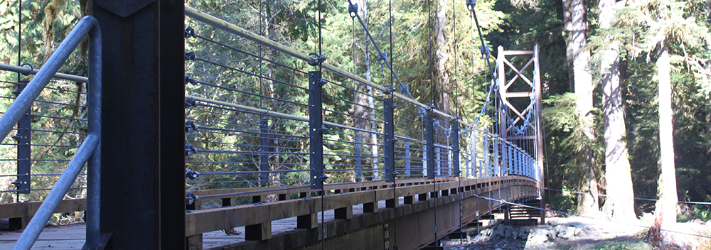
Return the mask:
<svg viewBox="0 0 711 250"><path fill-rule="evenodd" d="M321 87L324 80L320 71L309 72L309 167L311 189L324 187L324 106L321 102Z"/></svg>

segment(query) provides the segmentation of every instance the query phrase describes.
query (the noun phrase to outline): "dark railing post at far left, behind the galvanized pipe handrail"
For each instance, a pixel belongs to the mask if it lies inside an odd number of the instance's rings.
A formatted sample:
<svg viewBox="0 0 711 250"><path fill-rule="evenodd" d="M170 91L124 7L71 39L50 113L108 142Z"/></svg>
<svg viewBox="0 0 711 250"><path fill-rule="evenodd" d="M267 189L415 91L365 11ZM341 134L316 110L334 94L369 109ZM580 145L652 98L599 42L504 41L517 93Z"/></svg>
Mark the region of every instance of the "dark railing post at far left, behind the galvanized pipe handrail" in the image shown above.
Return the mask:
<svg viewBox="0 0 711 250"><path fill-rule="evenodd" d="M25 89L29 82L20 81L18 82L17 89L13 91L13 94L19 95L22 89ZM14 185L17 188L18 194L28 194L31 188L31 168L32 163L30 161L32 148L32 106L20 116L20 120L17 121L17 134L12 136L12 138L17 141L17 180ZM19 195L18 195L19 197ZM19 200L17 202L20 202ZM24 219L24 218L23 218ZM22 222L22 224L27 224L27 222Z"/></svg>

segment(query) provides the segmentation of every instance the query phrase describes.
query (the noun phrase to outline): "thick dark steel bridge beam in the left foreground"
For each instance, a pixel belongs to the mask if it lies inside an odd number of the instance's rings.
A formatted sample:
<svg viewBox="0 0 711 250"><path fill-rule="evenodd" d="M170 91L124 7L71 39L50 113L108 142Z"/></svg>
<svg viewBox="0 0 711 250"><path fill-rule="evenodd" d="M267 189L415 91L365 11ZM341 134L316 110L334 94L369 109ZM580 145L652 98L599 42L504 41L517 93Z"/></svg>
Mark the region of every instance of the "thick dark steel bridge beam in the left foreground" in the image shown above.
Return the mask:
<svg viewBox="0 0 711 250"><path fill-rule="evenodd" d="M185 249L183 0L97 0L106 249Z"/></svg>

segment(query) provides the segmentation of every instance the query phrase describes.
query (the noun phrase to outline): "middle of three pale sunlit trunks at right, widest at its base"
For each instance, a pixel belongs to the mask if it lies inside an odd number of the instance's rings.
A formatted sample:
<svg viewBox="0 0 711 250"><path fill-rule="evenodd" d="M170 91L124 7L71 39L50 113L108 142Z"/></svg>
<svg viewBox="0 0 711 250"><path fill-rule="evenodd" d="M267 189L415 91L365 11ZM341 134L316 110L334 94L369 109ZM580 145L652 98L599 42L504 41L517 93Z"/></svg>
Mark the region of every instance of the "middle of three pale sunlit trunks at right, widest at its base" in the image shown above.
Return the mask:
<svg viewBox="0 0 711 250"><path fill-rule="evenodd" d="M611 28L615 16L614 0L599 1L600 28ZM609 40L612 40L609 38ZM616 221L631 221L634 214L634 192L627 153L624 106L620 84L619 43L612 41L602 56L602 102L605 131L605 178L607 193L605 213Z"/></svg>

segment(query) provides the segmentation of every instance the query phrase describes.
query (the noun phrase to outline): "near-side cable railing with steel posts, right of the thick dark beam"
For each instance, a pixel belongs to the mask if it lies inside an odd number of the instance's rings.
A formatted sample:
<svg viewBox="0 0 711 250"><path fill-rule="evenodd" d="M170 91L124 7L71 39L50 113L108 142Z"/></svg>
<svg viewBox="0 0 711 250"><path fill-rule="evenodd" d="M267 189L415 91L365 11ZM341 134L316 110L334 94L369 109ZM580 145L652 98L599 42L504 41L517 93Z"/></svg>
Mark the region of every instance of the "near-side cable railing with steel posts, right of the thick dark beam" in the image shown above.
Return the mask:
<svg viewBox="0 0 711 250"><path fill-rule="evenodd" d="M530 153L496 134L326 62L309 72L316 57L208 13L186 16L187 191L540 180Z"/></svg>

